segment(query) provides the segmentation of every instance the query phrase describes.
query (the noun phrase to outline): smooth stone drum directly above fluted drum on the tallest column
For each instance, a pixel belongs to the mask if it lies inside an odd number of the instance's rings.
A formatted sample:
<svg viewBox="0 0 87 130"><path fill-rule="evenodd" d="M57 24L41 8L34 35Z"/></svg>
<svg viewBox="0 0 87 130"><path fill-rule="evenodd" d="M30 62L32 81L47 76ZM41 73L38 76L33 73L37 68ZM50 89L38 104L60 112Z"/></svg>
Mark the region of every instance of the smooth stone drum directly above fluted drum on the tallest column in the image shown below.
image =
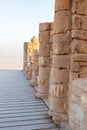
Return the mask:
<svg viewBox="0 0 87 130"><path fill-rule="evenodd" d="M53 83L68 83L69 82L69 70L68 69L51 69L51 81Z"/></svg>

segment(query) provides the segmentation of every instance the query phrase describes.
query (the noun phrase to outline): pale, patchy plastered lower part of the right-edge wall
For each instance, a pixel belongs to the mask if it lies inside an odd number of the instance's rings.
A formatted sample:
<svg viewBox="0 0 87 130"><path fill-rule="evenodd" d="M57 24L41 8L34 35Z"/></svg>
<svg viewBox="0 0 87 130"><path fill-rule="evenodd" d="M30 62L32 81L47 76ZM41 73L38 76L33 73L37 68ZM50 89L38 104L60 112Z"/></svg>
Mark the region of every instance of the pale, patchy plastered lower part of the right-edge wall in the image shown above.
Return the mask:
<svg viewBox="0 0 87 130"><path fill-rule="evenodd" d="M71 130L87 130L87 79L79 78L70 83L69 126Z"/></svg>

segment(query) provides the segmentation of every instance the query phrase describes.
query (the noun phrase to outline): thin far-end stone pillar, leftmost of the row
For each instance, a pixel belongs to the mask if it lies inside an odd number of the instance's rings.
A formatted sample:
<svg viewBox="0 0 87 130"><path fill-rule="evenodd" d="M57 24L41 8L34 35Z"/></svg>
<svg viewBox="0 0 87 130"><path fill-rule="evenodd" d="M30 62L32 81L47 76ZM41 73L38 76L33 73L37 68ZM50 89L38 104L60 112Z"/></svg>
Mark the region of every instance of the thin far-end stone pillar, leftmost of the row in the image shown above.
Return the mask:
<svg viewBox="0 0 87 130"><path fill-rule="evenodd" d="M27 69L27 46L28 42L24 43L24 56L23 56L23 72L26 75L26 69Z"/></svg>

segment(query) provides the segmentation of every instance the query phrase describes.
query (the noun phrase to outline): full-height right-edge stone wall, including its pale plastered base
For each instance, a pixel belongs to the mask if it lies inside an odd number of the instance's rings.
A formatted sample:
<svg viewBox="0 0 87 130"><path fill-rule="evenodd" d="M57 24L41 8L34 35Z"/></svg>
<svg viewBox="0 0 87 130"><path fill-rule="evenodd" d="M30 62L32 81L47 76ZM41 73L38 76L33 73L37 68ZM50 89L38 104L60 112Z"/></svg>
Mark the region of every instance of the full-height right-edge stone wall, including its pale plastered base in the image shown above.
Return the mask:
<svg viewBox="0 0 87 130"><path fill-rule="evenodd" d="M86 130L87 0L72 0L71 36L69 125L72 130Z"/></svg>

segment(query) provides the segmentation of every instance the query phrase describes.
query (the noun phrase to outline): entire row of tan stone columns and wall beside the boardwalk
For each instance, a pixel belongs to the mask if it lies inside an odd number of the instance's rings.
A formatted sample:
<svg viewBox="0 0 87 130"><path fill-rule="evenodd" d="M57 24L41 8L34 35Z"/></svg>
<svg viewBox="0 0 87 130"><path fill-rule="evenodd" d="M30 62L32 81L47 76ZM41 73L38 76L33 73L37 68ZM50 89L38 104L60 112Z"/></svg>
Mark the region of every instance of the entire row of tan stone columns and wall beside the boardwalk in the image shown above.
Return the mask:
<svg viewBox="0 0 87 130"><path fill-rule="evenodd" d="M87 0L55 0L54 12L39 24L39 53L24 43L23 71L59 127L87 130Z"/></svg>

